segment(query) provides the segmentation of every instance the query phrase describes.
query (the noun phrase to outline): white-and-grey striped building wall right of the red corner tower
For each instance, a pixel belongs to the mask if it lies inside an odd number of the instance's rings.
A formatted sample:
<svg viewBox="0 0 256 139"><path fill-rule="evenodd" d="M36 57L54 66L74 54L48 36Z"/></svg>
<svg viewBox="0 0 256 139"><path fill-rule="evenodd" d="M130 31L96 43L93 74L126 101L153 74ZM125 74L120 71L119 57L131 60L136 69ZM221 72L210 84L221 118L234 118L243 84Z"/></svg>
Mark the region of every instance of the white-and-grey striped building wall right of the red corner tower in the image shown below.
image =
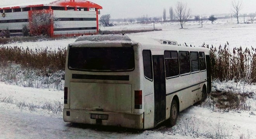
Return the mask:
<svg viewBox="0 0 256 139"><path fill-rule="evenodd" d="M54 35L97 32L96 11L54 10Z"/></svg>

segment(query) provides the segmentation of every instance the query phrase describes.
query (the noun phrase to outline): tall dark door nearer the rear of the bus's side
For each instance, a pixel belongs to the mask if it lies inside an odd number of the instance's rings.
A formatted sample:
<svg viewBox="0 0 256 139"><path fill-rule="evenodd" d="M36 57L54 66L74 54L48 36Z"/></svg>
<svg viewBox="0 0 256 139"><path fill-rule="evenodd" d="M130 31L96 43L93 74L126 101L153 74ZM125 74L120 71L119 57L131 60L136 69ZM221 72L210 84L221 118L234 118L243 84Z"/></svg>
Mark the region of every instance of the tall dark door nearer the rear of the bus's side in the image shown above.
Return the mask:
<svg viewBox="0 0 256 139"><path fill-rule="evenodd" d="M154 125L166 119L166 86L164 73L164 56L153 55L154 73Z"/></svg>

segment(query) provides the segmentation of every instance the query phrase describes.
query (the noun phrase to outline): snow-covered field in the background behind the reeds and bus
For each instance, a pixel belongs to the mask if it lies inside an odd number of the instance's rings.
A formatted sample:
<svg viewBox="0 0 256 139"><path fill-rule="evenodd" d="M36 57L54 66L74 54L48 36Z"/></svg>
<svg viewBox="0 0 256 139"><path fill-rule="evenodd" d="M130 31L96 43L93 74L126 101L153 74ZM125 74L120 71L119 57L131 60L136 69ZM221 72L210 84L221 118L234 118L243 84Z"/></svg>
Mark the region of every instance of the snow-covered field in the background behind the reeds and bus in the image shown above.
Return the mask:
<svg viewBox="0 0 256 139"><path fill-rule="evenodd" d="M242 20L242 19L240 19ZM132 36L151 37L156 39L166 39L177 41L178 44L191 44L192 46L202 46L203 43L219 47L224 46L227 42L230 49L233 47L251 48L256 47L256 26L255 24L235 24L235 20L218 19L211 24L211 21L203 21L203 27L199 22L191 21L183 25L180 29L178 22L155 23L155 28L163 29L162 31L142 32L131 34ZM119 24L112 27L101 27L102 31L125 31L125 30L143 30L153 29L154 23L150 24ZM63 39L54 41L41 42L15 42L2 46L29 47L29 49L48 47L52 49L65 48L67 44L74 42L75 39Z"/></svg>

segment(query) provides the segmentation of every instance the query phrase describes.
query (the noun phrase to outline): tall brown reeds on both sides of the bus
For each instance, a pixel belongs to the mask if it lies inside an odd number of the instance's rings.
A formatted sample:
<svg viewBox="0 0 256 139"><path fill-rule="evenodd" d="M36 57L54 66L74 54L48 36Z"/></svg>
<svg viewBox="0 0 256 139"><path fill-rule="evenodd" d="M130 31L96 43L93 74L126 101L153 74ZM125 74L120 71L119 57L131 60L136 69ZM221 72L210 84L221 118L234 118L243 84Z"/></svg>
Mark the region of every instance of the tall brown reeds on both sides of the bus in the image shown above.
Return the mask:
<svg viewBox="0 0 256 139"><path fill-rule="evenodd" d="M212 78L224 80L244 80L256 82L256 49L251 50L242 47L229 49L229 44L223 46L208 47L211 51ZM23 47L0 47L0 59L2 63L14 62L21 66L41 69L47 72L54 72L65 69L66 49L52 50L48 47L35 50Z"/></svg>

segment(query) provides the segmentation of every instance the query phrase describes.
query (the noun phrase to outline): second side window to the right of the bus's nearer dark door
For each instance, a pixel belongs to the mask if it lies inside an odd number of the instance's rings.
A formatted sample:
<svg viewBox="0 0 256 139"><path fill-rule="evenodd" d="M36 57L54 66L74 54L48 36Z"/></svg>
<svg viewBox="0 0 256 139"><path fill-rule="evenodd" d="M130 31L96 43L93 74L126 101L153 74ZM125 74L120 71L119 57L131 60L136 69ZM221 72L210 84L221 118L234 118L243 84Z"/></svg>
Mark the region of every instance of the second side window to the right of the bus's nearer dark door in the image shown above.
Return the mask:
<svg viewBox="0 0 256 139"><path fill-rule="evenodd" d="M180 75L190 73L189 51L179 51Z"/></svg>

